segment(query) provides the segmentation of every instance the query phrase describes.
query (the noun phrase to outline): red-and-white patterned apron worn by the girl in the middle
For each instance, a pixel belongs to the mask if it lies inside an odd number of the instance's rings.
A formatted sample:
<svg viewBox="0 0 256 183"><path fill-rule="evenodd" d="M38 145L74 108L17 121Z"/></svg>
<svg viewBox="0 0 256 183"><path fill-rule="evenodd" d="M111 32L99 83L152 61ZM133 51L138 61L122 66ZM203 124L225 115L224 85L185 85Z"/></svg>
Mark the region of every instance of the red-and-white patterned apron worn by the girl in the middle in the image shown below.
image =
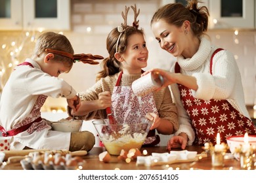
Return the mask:
<svg viewBox="0 0 256 183"><path fill-rule="evenodd" d="M112 93L112 116L117 123L129 122L129 124L138 123L148 112L158 114L153 93L143 97L136 96L131 86L119 86L121 76L118 76L116 86ZM156 129L150 130L143 145L154 146L160 142L159 135L156 135Z"/></svg>

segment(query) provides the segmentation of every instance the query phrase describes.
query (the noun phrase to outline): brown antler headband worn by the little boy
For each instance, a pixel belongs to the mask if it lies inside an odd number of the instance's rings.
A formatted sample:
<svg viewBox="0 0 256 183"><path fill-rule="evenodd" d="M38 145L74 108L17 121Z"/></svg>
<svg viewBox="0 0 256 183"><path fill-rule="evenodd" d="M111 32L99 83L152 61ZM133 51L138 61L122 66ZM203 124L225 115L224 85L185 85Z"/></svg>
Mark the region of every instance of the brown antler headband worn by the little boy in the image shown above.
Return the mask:
<svg viewBox="0 0 256 183"><path fill-rule="evenodd" d="M91 65L96 65L99 62L95 61L95 59L104 59L102 56L98 56L98 55L92 55L92 54L75 54L74 55L74 54L70 54L68 52L54 50L51 48L46 48L45 52L49 52L49 53L53 53L53 54L57 54L60 56L70 58L73 60L74 63L75 63L75 61L82 61L83 63L89 63Z"/></svg>

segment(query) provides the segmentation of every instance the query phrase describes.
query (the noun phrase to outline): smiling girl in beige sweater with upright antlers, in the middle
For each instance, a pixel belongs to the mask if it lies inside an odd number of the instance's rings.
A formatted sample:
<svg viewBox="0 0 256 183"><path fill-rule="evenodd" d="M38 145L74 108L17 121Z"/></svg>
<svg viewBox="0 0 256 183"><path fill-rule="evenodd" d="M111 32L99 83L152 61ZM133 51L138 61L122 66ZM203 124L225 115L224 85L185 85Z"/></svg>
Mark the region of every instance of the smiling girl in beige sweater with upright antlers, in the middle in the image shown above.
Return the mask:
<svg viewBox="0 0 256 183"><path fill-rule="evenodd" d="M126 8L124 24L112 29L107 37L109 57L102 61L103 70L98 73L97 82L92 88L79 93L81 107L75 115L83 115L82 118L86 120L107 118L106 108L111 107L116 122L123 124L138 123L139 118L149 113L154 123L144 144L156 145L160 137L155 129L165 135L177 131L177 108L168 88L144 97L135 96L131 90L132 82L140 78L148 60L144 33L138 29L139 21L136 21L139 13L136 6L131 8L135 12L133 26L127 25L129 8Z"/></svg>

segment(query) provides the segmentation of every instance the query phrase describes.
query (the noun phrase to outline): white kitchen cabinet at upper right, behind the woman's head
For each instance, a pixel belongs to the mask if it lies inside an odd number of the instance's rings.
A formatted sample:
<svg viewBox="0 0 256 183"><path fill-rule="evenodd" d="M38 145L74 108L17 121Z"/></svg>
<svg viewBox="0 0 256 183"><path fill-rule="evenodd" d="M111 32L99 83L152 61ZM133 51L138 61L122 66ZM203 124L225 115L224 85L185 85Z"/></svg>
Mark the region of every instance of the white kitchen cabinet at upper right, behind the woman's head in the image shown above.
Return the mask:
<svg viewBox="0 0 256 183"><path fill-rule="evenodd" d="M254 29L255 0L209 0L209 29Z"/></svg>

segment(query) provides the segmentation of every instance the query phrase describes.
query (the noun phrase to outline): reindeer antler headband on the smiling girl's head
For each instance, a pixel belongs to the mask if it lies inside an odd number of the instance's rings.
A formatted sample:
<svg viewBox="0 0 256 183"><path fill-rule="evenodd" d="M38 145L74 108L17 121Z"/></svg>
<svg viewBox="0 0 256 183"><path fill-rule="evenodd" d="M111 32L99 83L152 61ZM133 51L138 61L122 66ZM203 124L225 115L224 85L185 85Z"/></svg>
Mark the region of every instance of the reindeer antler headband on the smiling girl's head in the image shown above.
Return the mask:
<svg viewBox="0 0 256 183"><path fill-rule="evenodd" d="M137 20L137 17L139 16L140 9L139 9L138 12L137 12L136 4L135 4L134 7L131 6L131 8L133 9L133 12L134 12L133 27L138 28L138 27L139 27L139 20ZM129 9L130 9L130 7L127 8L127 7L125 6L125 13L123 13L123 12L121 13L124 22L121 23L121 26L118 26L118 27L117 27L117 31L119 31L120 34L119 34L119 37L118 37L118 39L117 39L117 41L116 41L116 52L117 52L117 50L118 50L118 44L119 44L121 35L123 35L123 33L125 32L125 29L126 29L127 27L129 27L129 25L127 25L127 15L128 15Z"/></svg>

